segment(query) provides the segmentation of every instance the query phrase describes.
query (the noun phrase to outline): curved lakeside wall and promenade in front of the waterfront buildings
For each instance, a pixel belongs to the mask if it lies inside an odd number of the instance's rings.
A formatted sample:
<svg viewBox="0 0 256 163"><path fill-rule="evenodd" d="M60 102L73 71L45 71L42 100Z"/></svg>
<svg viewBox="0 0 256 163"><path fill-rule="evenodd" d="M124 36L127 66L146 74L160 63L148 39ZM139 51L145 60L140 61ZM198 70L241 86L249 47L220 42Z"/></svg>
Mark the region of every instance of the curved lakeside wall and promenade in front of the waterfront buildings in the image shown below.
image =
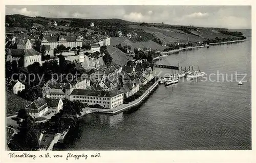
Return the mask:
<svg viewBox="0 0 256 163"><path fill-rule="evenodd" d="M152 90L154 90L158 86L158 83L159 83L159 79L150 88L148 88L141 97L139 97L135 101L130 102L129 104L122 104L114 109L98 109L98 108L88 108L88 109L92 110L92 112L109 113L109 114L116 114L118 112L130 109L132 107L139 105L150 94L150 92L152 92Z"/></svg>

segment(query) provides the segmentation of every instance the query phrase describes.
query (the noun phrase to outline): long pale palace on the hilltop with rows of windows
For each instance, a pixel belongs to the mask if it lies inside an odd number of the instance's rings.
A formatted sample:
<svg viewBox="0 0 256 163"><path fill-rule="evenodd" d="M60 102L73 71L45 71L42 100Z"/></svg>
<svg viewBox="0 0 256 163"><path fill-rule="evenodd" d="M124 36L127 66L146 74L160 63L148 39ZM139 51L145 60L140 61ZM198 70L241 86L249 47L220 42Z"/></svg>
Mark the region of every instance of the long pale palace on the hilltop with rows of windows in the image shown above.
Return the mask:
<svg viewBox="0 0 256 163"><path fill-rule="evenodd" d="M80 36L44 36L41 40L41 45L50 45L51 50L57 45L63 44L66 47L82 46L82 37Z"/></svg>

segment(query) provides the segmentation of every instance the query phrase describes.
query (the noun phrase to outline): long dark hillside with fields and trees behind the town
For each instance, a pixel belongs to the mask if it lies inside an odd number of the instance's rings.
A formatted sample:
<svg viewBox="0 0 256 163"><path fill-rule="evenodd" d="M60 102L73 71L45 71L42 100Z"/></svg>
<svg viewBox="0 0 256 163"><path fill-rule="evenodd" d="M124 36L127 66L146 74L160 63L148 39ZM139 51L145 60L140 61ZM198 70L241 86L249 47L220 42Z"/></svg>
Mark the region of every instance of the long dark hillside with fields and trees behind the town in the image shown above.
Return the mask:
<svg viewBox="0 0 256 163"><path fill-rule="evenodd" d="M49 27L48 23L57 21L58 26ZM108 34L114 38L112 45L122 43L130 44L133 48L151 48L161 51L166 48L163 44L173 44L175 42L186 43L187 39L193 44L206 41L223 41L245 39L243 33L236 31L228 31L225 28L203 28L194 26L173 26L157 23L132 22L122 19L83 19L83 18L49 18L49 17L30 17L24 15L6 15L6 22L9 27L6 31L14 32L13 30L30 30L33 25L41 25L42 31L51 33L65 34L67 31L78 32L91 30L93 33ZM94 22L94 27L90 27L91 22ZM65 25L68 24L68 27ZM76 31L76 30L75 30ZM122 36L133 34L131 39L121 38L118 31L122 32ZM37 31L38 32L38 31ZM84 32L86 34L86 31ZM123 42L124 41L124 42Z"/></svg>

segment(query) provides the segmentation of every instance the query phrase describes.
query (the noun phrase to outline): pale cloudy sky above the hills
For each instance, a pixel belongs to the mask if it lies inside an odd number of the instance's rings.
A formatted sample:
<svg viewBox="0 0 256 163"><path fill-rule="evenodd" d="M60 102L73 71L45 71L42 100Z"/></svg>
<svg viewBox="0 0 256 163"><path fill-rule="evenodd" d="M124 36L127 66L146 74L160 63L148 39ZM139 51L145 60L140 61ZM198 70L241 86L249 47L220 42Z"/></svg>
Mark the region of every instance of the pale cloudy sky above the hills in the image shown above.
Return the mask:
<svg viewBox="0 0 256 163"><path fill-rule="evenodd" d="M170 25L251 29L251 6L6 6L6 15L119 18Z"/></svg>

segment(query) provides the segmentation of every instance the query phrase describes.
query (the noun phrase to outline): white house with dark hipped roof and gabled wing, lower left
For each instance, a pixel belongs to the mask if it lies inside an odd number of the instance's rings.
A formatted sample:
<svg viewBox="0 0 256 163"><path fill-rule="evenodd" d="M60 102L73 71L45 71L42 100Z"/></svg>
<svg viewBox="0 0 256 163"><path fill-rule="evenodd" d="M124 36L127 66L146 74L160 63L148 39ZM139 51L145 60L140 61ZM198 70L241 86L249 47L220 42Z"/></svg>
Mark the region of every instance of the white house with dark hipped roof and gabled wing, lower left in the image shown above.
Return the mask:
<svg viewBox="0 0 256 163"><path fill-rule="evenodd" d="M27 113L33 118L42 117L47 113L57 113L63 108L61 99L39 98L25 107Z"/></svg>

